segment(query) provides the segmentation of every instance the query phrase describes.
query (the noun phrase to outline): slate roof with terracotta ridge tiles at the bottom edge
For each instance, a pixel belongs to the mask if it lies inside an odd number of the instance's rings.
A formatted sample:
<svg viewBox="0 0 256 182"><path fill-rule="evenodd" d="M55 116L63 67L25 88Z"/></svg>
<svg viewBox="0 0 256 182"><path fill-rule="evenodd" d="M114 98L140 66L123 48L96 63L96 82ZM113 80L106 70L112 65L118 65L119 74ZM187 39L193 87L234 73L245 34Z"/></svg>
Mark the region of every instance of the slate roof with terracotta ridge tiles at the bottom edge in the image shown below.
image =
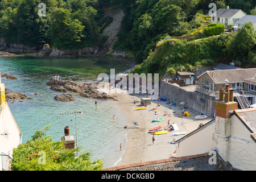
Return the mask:
<svg viewBox="0 0 256 182"><path fill-rule="evenodd" d="M217 164L209 164L210 156L208 154L199 154L184 156L179 158L169 158L163 160L154 160L150 162L141 162L128 164L112 168L103 169L103 171L224 171L237 170L232 168L229 163L224 162L217 154Z"/></svg>

